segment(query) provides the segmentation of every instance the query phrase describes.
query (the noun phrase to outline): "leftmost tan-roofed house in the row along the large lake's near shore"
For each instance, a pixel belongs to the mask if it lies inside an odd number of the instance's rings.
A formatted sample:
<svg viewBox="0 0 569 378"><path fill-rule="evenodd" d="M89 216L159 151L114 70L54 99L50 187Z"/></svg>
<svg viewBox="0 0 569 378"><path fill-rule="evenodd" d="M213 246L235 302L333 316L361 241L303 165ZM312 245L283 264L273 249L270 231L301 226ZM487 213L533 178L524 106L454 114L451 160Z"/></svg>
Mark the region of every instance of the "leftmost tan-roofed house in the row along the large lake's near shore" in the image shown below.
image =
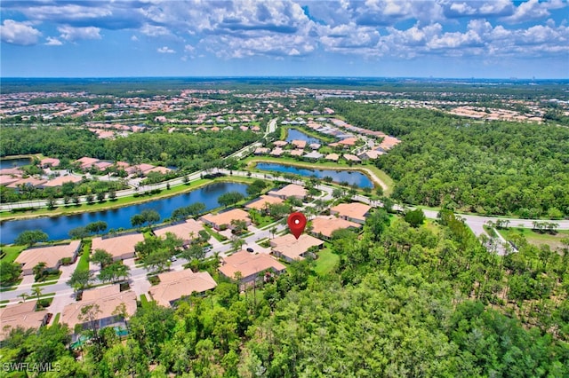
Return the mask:
<svg viewBox="0 0 569 378"><path fill-rule="evenodd" d="M28 248L21 251L14 263L21 264L22 274L25 276L33 274L34 267L39 263L45 263L45 269L48 271L57 271L64 258L76 261L80 246L80 240L73 240L69 244Z"/></svg>

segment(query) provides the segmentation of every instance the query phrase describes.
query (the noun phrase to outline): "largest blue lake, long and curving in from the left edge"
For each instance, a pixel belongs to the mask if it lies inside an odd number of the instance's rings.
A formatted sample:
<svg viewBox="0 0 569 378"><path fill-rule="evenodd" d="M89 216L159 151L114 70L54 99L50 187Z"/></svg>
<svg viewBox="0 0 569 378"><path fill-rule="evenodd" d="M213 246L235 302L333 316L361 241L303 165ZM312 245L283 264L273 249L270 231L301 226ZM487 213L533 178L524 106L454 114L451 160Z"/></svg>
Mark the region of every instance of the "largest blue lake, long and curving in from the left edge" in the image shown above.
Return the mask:
<svg viewBox="0 0 569 378"><path fill-rule="evenodd" d="M13 243L20 232L26 230L42 230L48 234L49 240L68 239L69 230L97 221L107 222L108 228L106 231L110 229L132 228L131 217L135 214L140 214L142 210L156 210L158 214L160 214L161 220L171 217L173 210L196 202L203 202L205 209L211 210L220 207L217 199L221 194L235 191L246 196L247 186L248 185L239 183L215 183L192 192L182 193L156 201L125 206L123 208L93 211L70 216L7 221L1 225L0 242L3 244Z"/></svg>

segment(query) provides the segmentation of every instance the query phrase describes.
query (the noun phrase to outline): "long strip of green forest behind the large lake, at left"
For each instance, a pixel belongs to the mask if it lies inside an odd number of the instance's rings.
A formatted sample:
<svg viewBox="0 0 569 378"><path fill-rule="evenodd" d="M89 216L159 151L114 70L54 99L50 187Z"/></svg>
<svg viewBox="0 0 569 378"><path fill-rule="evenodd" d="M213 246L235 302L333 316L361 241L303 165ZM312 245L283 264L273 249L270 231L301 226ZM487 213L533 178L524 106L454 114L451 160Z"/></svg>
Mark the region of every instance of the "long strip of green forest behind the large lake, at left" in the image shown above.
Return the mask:
<svg viewBox="0 0 569 378"><path fill-rule="evenodd" d="M148 162L180 169L200 169L250 145L259 138L252 131L168 133L160 128L132 133L126 138L100 139L89 130L76 127L3 127L0 156L44 154L76 160L83 156L129 163ZM197 166L196 166L197 165Z"/></svg>

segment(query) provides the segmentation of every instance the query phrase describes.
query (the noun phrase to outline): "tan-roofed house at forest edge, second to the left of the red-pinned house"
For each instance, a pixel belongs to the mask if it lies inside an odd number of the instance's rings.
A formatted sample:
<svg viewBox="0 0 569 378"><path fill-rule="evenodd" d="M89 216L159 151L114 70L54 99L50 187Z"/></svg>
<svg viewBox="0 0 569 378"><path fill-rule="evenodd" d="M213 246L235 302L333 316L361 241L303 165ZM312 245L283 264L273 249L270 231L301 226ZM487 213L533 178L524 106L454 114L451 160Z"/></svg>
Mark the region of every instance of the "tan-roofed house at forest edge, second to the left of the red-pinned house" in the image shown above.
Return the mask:
<svg viewBox="0 0 569 378"><path fill-rule="evenodd" d="M158 274L160 283L150 287L148 292L156 303L164 307L172 307L183 296L192 293L203 294L217 286L215 280L208 272L192 272L185 269L179 272L165 272Z"/></svg>

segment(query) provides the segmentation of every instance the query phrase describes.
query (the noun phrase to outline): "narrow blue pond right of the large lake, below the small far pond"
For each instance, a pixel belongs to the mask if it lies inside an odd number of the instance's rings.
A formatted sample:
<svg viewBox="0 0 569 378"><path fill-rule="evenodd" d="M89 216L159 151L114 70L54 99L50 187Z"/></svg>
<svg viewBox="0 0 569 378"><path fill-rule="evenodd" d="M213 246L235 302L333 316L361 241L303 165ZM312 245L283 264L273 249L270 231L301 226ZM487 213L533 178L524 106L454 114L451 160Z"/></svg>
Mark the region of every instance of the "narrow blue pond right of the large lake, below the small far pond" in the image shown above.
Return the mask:
<svg viewBox="0 0 569 378"><path fill-rule="evenodd" d="M346 182L349 185L357 185L360 188L370 187L373 188L373 182L369 177L356 170L334 170L334 169L308 169L298 168L292 165L276 164L260 162L257 168L261 170L272 170L282 173L293 173L303 177L316 176L324 178L326 176L332 177L333 182L342 183Z"/></svg>

